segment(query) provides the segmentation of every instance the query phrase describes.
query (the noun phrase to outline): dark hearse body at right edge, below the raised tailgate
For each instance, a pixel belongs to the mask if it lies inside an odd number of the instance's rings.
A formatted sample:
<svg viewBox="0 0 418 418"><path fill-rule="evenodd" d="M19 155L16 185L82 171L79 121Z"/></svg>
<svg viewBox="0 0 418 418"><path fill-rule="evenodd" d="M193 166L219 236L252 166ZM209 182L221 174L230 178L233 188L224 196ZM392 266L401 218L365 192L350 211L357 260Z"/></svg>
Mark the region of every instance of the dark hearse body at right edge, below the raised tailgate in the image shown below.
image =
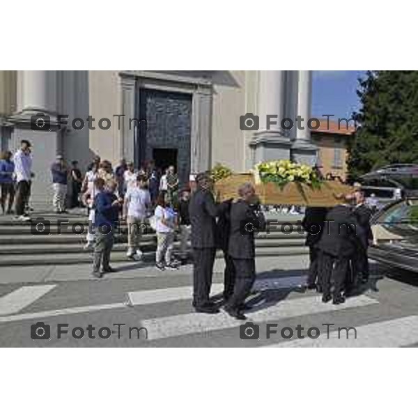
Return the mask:
<svg viewBox="0 0 418 418"><path fill-rule="evenodd" d="M418 199L385 206L373 216L373 260L418 273Z"/></svg>

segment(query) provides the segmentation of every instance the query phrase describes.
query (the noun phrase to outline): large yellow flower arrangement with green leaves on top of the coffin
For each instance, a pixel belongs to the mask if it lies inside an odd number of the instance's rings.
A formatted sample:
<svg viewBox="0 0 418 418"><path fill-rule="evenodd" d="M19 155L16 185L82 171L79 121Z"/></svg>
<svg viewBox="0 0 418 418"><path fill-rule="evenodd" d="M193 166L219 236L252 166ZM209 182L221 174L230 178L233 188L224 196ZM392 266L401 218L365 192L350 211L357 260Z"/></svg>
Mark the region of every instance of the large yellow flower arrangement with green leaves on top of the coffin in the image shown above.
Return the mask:
<svg viewBox="0 0 418 418"><path fill-rule="evenodd" d="M290 160L259 162L251 173L256 184L275 183L281 189L291 182L319 189L322 183L314 169Z"/></svg>

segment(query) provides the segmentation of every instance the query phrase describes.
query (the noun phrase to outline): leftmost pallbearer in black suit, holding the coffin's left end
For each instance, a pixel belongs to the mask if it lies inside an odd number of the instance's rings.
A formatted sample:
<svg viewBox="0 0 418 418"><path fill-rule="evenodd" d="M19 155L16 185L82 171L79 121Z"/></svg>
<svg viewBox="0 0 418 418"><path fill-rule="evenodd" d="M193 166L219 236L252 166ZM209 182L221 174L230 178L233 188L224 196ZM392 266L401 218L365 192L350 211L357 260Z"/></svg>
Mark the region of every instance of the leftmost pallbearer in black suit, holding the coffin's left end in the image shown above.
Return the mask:
<svg viewBox="0 0 418 418"><path fill-rule="evenodd" d="M209 295L216 251L216 217L225 206L215 203L209 173L198 174L196 183L196 191L189 203L193 248L193 306L198 312L217 314L219 309L209 301Z"/></svg>

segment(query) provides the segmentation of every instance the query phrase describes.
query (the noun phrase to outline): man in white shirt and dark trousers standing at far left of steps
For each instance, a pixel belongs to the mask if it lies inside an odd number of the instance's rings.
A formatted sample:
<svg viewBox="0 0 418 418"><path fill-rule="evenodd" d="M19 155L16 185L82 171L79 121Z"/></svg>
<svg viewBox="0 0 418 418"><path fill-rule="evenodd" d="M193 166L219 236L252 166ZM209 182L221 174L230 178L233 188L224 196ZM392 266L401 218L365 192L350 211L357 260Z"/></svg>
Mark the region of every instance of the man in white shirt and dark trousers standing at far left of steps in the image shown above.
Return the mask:
<svg viewBox="0 0 418 418"><path fill-rule="evenodd" d="M23 139L20 142L20 150L13 157L15 163L15 176L17 184L16 192L16 217L20 221L30 221L31 218L24 214L26 203L29 200L32 178L31 143Z"/></svg>

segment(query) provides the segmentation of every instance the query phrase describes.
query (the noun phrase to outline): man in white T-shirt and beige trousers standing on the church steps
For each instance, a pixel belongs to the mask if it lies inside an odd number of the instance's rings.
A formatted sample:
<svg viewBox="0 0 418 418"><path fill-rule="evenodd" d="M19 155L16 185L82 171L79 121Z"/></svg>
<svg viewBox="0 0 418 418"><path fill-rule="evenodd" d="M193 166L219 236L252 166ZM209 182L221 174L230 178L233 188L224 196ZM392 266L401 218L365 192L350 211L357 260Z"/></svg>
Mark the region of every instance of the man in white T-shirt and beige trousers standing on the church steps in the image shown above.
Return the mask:
<svg viewBox="0 0 418 418"><path fill-rule="evenodd" d="M139 249L142 229L145 227L147 210L151 206L151 198L146 189L146 176L139 174L133 187L127 189L125 194L124 212L127 223L127 258L141 258Z"/></svg>

